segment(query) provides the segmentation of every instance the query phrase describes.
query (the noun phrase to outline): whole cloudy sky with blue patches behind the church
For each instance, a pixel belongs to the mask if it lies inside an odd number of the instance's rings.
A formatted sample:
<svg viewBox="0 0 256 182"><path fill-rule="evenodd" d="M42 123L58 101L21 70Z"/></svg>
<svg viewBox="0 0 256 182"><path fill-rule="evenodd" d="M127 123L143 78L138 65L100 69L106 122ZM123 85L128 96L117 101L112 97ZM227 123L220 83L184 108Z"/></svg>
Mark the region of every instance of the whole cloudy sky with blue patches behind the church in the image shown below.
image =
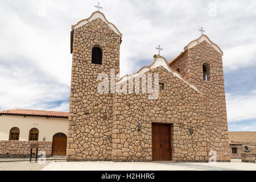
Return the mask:
<svg viewBox="0 0 256 182"><path fill-rule="evenodd" d="M71 25L102 13L122 32L121 76L171 60L199 28L224 52L229 131L256 131L255 1L0 0L0 110L68 111Z"/></svg>

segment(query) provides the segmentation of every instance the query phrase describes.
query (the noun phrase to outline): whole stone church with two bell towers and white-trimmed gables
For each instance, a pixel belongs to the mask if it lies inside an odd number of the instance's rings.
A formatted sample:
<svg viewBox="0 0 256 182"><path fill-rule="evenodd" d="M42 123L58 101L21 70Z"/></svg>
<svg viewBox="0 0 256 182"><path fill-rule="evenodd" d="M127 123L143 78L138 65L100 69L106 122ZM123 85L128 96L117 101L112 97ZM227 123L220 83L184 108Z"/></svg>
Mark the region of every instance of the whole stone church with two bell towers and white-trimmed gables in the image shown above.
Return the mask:
<svg viewBox="0 0 256 182"><path fill-rule="evenodd" d="M201 35L174 59L155 55L116 81L158 74L159 95L150 100L143 92L98 92L100 73L119 73L121 43L100 11L72 26L67 160L229 162L221 49Z"/></svg>

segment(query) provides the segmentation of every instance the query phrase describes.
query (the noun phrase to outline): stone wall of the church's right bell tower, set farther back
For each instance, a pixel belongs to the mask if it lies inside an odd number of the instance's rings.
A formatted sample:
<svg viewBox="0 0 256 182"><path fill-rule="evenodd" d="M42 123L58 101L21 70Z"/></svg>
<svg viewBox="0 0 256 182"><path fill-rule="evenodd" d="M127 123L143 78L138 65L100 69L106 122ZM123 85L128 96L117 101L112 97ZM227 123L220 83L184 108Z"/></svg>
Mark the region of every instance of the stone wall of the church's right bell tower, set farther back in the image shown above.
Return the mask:
<svg viewBox="0 0 256 182"><path fill-rule="evenodd" d="M210 67L209 81L203 79L204 63ZM204 40L185 49L170 66L174 70L179 68L181 75L204 93L208 151L216 151L218 161L230 161L222 54Z"/></svg>

